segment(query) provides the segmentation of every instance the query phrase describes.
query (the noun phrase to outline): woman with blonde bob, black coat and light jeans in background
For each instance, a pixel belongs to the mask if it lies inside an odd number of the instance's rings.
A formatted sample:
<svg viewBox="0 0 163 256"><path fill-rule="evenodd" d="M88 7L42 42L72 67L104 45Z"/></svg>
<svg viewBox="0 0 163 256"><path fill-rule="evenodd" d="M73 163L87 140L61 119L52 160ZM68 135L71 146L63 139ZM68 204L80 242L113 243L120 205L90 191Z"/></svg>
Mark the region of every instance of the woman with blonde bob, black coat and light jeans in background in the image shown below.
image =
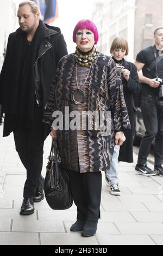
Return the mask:
<svg viewBox="0 0 163 256"><path fill-rule="evenodd" d="M133 138L135 134L135 110L134 110L134 94L141 92L141 84L137 74L136 66L124 59L129 52L128 42L123 37L116 37L111 44L110 53L114 59L116 66L121 74L124 100L126 102L129 120L131 124L130 130L124 131L126 141L122 146L115 146L110 169L105 173L106 184L110 186L110 194L121 195L118 183L118 161L133 163Z"/></svg>

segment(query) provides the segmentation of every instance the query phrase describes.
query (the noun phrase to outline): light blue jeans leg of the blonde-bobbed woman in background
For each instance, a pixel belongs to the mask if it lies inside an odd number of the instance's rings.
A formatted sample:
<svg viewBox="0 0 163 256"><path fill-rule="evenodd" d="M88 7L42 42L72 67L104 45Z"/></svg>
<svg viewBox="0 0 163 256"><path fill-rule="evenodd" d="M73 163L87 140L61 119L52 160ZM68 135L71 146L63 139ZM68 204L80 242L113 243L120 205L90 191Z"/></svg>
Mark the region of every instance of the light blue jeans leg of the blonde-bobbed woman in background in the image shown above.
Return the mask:
<svg viewBox="0 0 163 256"><path fill-rule="evenodd" d="M118 183L118 156L120 152L120 146L114 147L112 160L110 163L110 169L106 171L106 176L109 178L110 186Z"/></svg>

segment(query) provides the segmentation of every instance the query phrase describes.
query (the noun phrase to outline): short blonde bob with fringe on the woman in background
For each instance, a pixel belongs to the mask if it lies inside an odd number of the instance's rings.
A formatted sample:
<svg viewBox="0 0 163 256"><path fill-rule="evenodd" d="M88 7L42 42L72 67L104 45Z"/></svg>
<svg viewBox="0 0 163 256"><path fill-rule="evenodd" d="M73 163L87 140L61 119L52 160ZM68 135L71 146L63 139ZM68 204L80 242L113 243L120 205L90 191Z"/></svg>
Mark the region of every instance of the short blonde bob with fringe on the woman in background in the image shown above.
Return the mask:
<svg viewBox="0 0 163 256"><path fill-rule="evenodd" d="M115 49L126 50L125 55L128 55L128 42L124 37L116 37L111 44L110 53L113 54Z"/></svg>

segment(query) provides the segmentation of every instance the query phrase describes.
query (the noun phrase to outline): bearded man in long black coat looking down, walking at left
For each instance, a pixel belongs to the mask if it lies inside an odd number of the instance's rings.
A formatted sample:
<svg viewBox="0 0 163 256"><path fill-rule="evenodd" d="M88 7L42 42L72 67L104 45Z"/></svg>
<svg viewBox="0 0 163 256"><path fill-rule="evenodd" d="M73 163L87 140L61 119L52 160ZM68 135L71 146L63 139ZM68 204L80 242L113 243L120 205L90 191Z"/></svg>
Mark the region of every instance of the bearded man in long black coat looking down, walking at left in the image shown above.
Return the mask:
<svg viewBox="0 0 163 256"><path fill-rule="evenodd" d="M0 76L0 115L5 114L3 136L14 133L16 151L27 169L21 215L34 213L34 202L44 198L41 176L43 144L49 128L43 109L57 64L67 55L60 29L45 25L33 1L19 5L20 28L11 33Z"/></svg>

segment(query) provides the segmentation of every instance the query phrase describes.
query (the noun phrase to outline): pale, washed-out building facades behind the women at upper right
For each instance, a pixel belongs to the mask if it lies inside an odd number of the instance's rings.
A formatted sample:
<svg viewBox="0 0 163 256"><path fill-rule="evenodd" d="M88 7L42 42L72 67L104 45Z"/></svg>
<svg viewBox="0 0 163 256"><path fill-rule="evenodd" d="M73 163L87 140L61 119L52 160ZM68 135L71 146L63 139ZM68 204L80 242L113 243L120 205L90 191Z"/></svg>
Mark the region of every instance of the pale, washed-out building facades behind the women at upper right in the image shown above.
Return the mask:
<svg viewBox="0 0 163 256"><path fill-rule="evenodd" d="M153 31L162 26L163 0L105 0L97 2L93 21L99 30L98 48L110 55L112 40L121 35L128 40L129 61L137 52L153 44Z"/></svg>

